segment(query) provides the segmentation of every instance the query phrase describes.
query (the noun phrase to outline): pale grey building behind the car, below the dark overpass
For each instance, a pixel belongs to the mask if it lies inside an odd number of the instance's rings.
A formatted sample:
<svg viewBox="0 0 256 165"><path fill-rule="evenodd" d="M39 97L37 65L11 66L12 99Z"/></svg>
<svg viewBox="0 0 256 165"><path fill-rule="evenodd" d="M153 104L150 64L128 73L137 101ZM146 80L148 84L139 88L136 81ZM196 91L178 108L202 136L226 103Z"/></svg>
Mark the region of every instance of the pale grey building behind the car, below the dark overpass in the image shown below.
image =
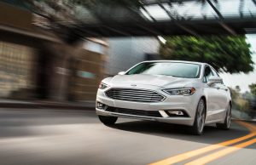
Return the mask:
<svg viewBox="0 0 256 165"><path fill-rule="evenodd" d="M119 71L126 71L132 65L143 60L158 59L160 47L159 40L155 37L116 37L108 39L109 76L116 75Z"/></svg>

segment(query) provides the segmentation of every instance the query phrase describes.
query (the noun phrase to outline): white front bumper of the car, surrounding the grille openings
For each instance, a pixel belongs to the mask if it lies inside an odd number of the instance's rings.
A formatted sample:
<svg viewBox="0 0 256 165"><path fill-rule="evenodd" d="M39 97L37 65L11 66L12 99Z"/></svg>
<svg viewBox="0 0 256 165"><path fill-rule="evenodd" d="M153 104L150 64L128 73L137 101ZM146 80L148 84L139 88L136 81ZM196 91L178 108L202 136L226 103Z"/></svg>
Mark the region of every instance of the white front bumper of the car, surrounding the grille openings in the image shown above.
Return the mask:
<svg viewBox="0 0 256 165"><path fill-rule="evenodd" d="M145 87L143 87L145 88ZM162 91L162 88L148 87L150 90L154 90L160 94L166 96L166 99L160 102L154 103L145 103L145 102L136 102L136 101L127 101L127 100L113 100L108 98L105 94L105 90L99 89L97 92L96 102L100 102L106 105L105 108L96 108L96 114L101 116L110 116L110 117L126 117L133 119L141 120L150 120L157 122L168 122L174 124L182 125L193 125L195 118L196 106L198 103L197 94L190 96L179 96L179 95L168 95ZM145 115L136 115L136 114L127 114L120 113L116 111L107 111L107 107L115 108L125 108L127 110L138 110L138 111L159 111L160 117L148 117ZM170 117L166 115L166 111L183 111L186 113L187 117Z"/></svg>

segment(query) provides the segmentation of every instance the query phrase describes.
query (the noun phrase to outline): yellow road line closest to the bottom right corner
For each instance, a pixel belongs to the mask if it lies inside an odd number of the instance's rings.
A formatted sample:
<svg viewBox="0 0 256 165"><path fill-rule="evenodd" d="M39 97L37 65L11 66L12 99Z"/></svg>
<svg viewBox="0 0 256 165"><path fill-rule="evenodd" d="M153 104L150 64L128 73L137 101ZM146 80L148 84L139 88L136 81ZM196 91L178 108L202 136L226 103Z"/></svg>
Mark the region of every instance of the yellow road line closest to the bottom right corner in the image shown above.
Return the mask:
<svg viewBox="0 0 256 165"><path fill-rule="evenodd" d="M234 145L234 146L229 146L229 148L221 150L221 151L216 151L212 154L209 154L207 156L203 156L199 159L196 159L195 161L188 162L185 165L200 165L200 164L206 164L207 162L212 162L222 156L226 156L230 154L231 152L241 150L244 147L247 147L248 145L253 145L256 143L256 138L248 140L246 142L243 142L239 145Z"/></svg>

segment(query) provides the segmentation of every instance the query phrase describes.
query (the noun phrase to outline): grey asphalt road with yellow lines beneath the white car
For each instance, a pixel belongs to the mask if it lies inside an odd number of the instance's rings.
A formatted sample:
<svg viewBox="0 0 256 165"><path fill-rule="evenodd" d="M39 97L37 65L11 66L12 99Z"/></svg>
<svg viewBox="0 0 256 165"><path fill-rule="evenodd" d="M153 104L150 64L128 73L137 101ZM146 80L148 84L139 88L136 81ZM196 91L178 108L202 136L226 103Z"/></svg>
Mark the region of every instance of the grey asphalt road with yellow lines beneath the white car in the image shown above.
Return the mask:
<svg viewBox="0 0 256 165"><path fill-rule="evenodd" d="M2 109L0 164L253 165L256 124L249 124L232 122L229 131L208 126L195 136L185 127L130 119L119 119L110 128L94 111Z"/></svg>

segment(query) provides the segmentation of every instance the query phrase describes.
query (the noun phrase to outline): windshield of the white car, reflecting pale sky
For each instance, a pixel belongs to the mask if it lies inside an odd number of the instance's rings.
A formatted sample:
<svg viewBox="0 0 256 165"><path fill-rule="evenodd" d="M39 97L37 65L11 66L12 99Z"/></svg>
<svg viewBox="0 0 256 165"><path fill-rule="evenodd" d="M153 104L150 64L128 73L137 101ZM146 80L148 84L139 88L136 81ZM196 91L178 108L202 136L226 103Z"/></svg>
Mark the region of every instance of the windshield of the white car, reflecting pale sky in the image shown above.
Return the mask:
<svg viewBox="0 0 256 165"><path fill-rule="evenodd" d="M201 65L181 62L144 62L126 73L126 75L148 74L172 77L198 78Z"/></svg>

